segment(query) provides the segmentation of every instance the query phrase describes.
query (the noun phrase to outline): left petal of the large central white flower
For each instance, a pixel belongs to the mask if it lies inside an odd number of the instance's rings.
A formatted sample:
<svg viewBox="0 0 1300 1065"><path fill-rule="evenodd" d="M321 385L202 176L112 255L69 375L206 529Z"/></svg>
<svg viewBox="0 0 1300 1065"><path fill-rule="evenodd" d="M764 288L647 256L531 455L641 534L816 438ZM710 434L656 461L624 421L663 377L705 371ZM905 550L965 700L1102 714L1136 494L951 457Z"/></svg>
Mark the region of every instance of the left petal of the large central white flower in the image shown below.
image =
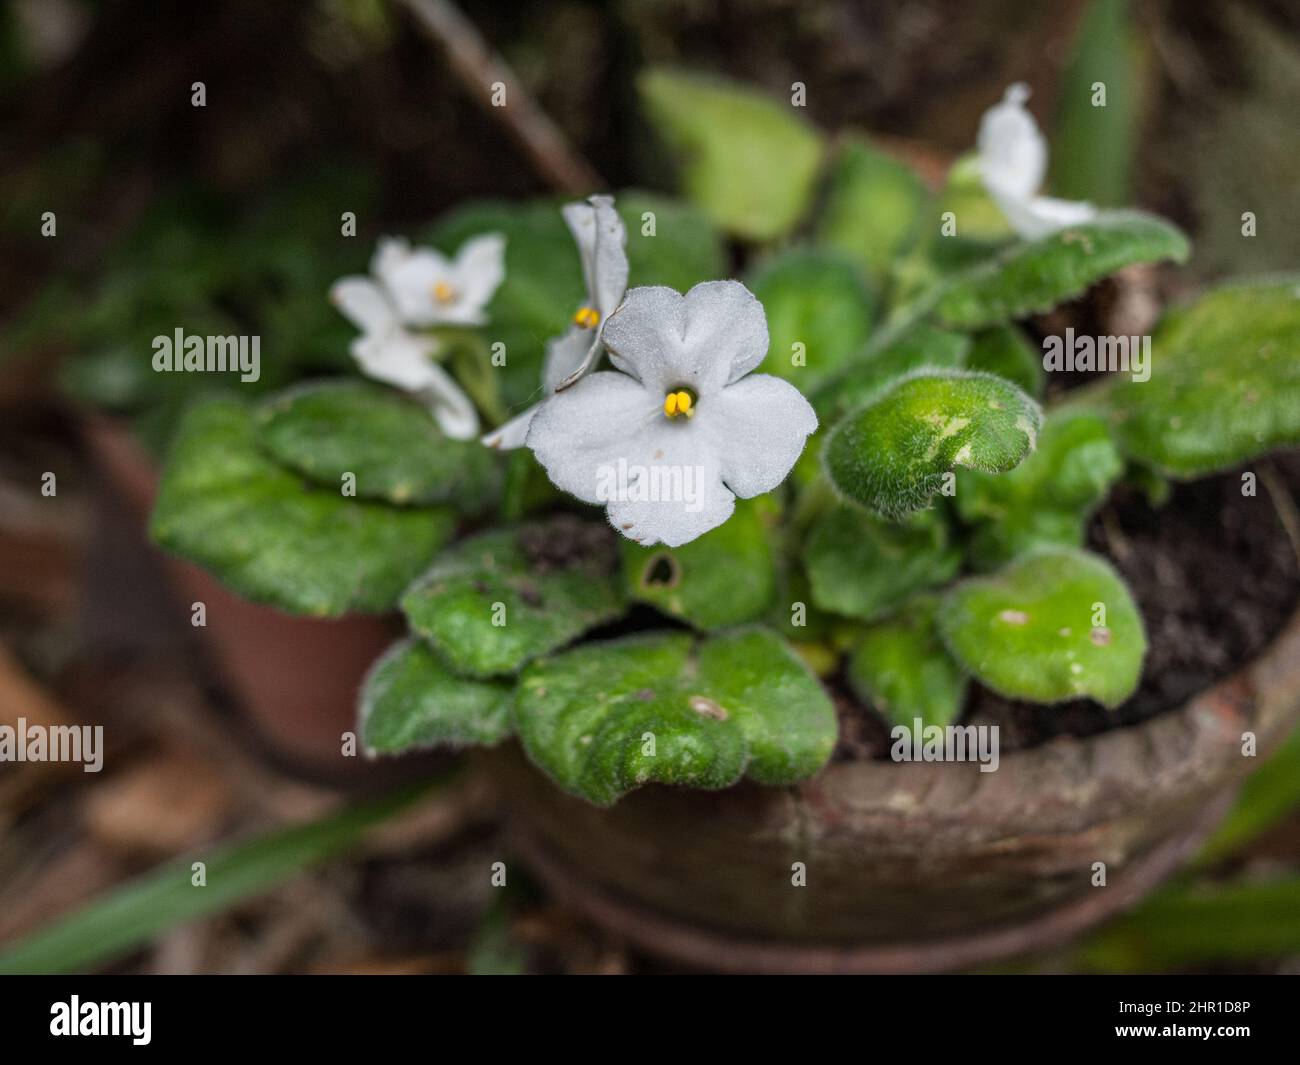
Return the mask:
<svg viewBox="0 0 1300 1065"><path fill-rule="evenodd" d="M592 373L541 404L528 446L558 488L588 503L599 495L602 469L651 455L664 424L662 401L623 373Z"/></svg>

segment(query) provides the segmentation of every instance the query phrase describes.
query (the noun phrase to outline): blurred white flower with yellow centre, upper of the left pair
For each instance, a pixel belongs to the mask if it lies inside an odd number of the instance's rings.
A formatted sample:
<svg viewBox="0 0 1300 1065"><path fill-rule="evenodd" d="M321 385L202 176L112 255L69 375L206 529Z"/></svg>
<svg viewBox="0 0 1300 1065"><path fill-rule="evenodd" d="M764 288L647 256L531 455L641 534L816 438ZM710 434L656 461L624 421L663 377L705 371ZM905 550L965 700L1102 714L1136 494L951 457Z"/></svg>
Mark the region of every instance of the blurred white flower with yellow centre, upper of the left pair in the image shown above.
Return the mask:
<svg viewBox="0 0 1300 1065"><path fill-rule="evenodd" d="M488 302L506 277L506 238L474 237L455 259L389 238L380 242L372 270L407 325L482 325Z"/></svg>

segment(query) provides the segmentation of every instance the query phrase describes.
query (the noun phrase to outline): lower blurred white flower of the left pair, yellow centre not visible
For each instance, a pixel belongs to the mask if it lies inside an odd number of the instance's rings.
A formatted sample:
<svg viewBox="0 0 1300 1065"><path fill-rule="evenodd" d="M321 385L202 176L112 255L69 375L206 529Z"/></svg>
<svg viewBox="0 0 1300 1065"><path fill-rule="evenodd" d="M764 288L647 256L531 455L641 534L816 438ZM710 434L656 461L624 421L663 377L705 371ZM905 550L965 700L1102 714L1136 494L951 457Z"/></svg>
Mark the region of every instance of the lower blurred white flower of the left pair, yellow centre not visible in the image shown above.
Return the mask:
<svg viewBox="0 0 1300 1065"><path fill-rule="evenodd" d="M376 274L390 247L390 242L380 243L370 264ZM351 351L367 376L419 397L448 437L469 440L478 433L474 404L433 362L437 342L406 328L391 294L381 282L369 277L344 277L330 287L330 299L361 330Z"/></svg>

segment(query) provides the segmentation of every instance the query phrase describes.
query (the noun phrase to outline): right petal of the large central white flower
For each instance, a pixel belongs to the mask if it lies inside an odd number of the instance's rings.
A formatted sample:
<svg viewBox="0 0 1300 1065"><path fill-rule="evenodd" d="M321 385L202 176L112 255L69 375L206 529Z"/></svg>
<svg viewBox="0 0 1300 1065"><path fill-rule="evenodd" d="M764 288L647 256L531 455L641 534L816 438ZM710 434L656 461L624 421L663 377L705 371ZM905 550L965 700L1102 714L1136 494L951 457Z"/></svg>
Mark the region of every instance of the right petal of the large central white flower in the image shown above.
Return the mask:
<svg viewBox="0 0 1300 1065"><path fill-rule="evenodd" d="M701 450L714 455L727 486L749 499L771 492L789 475L816 430L812 406L794 385L755 373L699 404Z"/></svg>

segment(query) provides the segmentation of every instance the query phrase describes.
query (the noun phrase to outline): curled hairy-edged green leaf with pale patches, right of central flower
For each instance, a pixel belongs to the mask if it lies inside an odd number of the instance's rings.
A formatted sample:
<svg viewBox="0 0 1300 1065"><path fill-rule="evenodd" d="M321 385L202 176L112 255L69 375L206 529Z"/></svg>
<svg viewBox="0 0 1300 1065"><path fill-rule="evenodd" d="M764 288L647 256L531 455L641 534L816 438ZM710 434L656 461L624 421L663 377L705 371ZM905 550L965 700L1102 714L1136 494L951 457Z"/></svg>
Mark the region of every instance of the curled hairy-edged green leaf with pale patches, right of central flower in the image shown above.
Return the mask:
<svg viewBox="0 0 1300 1065"><path fill-rule="evenodd" d="M898 519L926 507L958 467L1017 466L1041 420L1037 403L1001 377L918 371L835 427L826 467L849 499Z"/></svg>

